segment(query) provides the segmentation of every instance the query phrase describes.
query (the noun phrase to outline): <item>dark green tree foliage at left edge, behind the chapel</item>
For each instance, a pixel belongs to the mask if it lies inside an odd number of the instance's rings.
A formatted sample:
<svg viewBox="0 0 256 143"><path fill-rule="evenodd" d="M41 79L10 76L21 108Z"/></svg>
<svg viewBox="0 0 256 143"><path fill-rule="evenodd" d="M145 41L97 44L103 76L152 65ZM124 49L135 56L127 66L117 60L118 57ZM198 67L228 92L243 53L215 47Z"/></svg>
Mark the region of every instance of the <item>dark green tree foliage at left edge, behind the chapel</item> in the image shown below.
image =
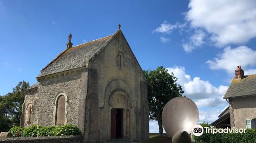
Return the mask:
<svg viewBox="0 0 256 143"><path fill-rule="evenodd" d="M22 105L25 99L25 89L29 83L19 82L5 96L0 96L0 132L8 131L12 126L18 126L22 115Z"/></svg>

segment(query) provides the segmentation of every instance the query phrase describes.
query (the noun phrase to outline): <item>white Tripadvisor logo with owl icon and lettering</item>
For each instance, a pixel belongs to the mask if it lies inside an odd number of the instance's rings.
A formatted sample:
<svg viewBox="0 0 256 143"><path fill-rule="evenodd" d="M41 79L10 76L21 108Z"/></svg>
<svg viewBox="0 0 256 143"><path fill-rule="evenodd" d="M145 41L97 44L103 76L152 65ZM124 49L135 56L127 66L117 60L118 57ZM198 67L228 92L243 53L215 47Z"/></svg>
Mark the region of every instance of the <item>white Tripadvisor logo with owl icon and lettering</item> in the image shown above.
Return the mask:
<svg viewBox="0 0 256 143"><path fill-rule="evenodd" d="M202 135L204 132L205 133L212 133L212 134L215 134L215 133L245 133L245 130L246 129L237 129L237 128L231 128L229 129L228 127L227 128L220 128L220 129L217 129L217 128L214 128L214 127L202 127L201 125L196 125L194 126L194 128L192 129L192 132L195 136L200 136Z"/></svg>

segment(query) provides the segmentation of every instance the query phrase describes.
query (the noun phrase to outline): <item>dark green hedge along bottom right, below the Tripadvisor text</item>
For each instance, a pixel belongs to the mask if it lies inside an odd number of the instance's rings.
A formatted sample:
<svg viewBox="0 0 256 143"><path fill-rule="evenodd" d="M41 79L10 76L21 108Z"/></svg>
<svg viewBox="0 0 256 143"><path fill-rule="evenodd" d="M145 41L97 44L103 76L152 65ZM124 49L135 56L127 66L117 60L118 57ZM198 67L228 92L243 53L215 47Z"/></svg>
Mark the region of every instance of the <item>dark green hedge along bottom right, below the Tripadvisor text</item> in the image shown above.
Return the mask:
<svg viewBox="0 0 256 143"><path fill-rule="evenodd" d="M245 133L203 133L201 136L194 136L194 139L208 143L255 143L256 129L247 129Z"/></svg>

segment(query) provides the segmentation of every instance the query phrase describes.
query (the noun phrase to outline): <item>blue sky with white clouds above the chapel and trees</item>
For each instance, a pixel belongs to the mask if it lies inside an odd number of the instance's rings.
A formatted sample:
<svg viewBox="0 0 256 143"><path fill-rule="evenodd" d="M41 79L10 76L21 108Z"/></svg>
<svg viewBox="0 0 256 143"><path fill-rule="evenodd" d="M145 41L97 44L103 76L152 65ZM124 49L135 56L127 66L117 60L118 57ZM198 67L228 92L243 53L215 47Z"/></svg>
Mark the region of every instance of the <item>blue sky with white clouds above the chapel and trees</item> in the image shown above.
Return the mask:
<svg viewBox="0 0 256 143"><path fill-rule="evenodd" d="M211 123L242 66L256 74L255 1L8 1L0 0L0 95L73 45L115 33L117 25L142 69L163 65ZM157 132L156 122L150 123Z"/></svg>

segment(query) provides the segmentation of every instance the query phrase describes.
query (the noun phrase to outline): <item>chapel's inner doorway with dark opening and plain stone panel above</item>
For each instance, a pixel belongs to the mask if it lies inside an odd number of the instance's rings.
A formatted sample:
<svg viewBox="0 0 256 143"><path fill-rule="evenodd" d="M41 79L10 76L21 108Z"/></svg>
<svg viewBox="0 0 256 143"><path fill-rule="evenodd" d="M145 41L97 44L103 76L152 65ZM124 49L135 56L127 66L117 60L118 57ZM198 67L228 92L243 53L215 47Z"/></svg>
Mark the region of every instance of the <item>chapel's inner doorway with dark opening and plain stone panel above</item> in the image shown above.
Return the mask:
<svg viewBox="0 0 256 143"><path fill-rule="evenodd" d="M130 111L127 99L123 94L115 93L111 107L111 138L124 138L124 128L130 120L126 112Z"/></svg>

